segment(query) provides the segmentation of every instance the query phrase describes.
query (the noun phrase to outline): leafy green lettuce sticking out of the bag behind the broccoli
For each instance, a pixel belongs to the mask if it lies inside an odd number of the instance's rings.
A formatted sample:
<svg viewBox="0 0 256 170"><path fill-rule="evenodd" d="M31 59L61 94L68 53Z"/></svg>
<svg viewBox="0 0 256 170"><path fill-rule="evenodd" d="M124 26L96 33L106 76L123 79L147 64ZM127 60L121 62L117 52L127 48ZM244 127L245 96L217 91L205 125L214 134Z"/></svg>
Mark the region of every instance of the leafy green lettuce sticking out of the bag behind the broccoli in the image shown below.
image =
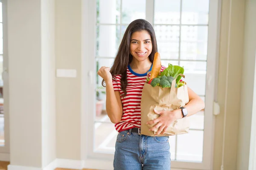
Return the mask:
<svg viewBox="0 0 256 170"><path fill-rule="evenodd" d="M184 68L180 67L178 65L172 65L172 64L168 64L168 67L160 74L160 77L162 76L172 76L172 77L176 77L179 74L183 74L184 73ZM176 83L180 82L181 76L178 76L176 79Z"/></svg>

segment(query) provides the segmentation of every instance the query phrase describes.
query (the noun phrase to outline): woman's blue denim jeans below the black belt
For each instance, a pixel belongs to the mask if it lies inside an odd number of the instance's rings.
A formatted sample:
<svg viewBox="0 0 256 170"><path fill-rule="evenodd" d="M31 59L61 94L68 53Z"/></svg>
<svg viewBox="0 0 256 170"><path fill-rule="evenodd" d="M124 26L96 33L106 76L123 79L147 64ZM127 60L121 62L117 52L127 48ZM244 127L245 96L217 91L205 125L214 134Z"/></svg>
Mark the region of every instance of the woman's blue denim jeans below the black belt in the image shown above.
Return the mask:
<svg viewBox="0 0 256 170"><path fill-rule="evenodd" d="M145 136L125 130L116 137L114 170L170 170L169 136Z"/></svg>

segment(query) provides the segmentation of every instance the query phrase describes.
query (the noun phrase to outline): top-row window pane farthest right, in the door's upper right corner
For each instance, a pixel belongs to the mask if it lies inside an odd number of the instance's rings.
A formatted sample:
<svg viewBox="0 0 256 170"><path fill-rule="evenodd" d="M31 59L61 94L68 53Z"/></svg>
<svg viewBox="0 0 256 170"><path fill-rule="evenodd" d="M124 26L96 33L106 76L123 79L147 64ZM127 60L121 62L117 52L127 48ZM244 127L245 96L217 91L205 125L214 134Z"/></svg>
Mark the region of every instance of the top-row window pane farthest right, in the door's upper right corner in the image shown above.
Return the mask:
<svg viewBox="0 0 256 170"><path fill-rule="evenodd" d="M208 24L209 0L182 0L182 24Z"/></svg>

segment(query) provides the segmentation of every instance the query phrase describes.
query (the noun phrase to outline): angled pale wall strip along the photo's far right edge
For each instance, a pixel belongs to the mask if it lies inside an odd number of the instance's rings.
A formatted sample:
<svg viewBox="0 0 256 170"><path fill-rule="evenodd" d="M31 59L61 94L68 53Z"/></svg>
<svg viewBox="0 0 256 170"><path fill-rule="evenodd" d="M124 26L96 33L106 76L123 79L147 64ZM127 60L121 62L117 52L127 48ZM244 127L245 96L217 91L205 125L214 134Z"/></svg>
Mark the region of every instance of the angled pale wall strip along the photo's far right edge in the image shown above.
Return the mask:
<svg viewBox="0 0 256 170"><path fill-rule="evenodd" d="M256 1L246 0L245 5L245 27L244 27L244 57L243 57L243 69L241 79L241 110L239 117L239 140L238 140L238 154L237 154L237 169L248 170L249 167L249 153L250 149L254 151L254 148L250 148L250 139L255 136L251 136L252 114L256 114L256 105L253 105L256 100L256 75L255 75L255 57L256 57ZM254 108L254 109L253 109ZM255 116L254 116L255 119ZM255 134L255 132L254 132ZM255 142L255 141L254 141ZM253 143L251 143L253 146ZM255 147L255 144L254 144ZM255 152L255 151L254 151ZM254 157L255 161L256 157Z"/></svg>

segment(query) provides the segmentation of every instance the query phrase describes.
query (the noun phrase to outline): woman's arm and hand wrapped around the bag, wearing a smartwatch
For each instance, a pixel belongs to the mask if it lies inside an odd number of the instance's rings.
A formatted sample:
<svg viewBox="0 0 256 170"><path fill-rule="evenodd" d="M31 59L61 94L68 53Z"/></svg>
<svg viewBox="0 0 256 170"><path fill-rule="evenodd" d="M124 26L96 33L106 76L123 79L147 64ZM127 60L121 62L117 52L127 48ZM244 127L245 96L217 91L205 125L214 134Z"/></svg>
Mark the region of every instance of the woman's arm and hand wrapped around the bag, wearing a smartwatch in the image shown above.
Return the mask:
<svg viewBox="0 0 256 170"><path fill-rule="evenodd" d="M204 109L204 101L201 99L200 96L198 96L189 87L188 87L188 94L189 94L189 102L184 107L188 111L187 116L191 116L195 113L198 113L202 109ZM153 131L153 130L157 129L158 127L160 127L159 130L157 131L156 135L158 135L160 133L162 133L162 134L165 133L167 127L172 122L174 122L177 119L183 118L181 109L176 109L174 111L156 111L156 110L154 110L154 112L157 114L160 114L160 116L157 119L147 122L147 124L151 125L151 124L157 123L157 125L155 125L154 127L152 127L150 129Z"/></svg>

